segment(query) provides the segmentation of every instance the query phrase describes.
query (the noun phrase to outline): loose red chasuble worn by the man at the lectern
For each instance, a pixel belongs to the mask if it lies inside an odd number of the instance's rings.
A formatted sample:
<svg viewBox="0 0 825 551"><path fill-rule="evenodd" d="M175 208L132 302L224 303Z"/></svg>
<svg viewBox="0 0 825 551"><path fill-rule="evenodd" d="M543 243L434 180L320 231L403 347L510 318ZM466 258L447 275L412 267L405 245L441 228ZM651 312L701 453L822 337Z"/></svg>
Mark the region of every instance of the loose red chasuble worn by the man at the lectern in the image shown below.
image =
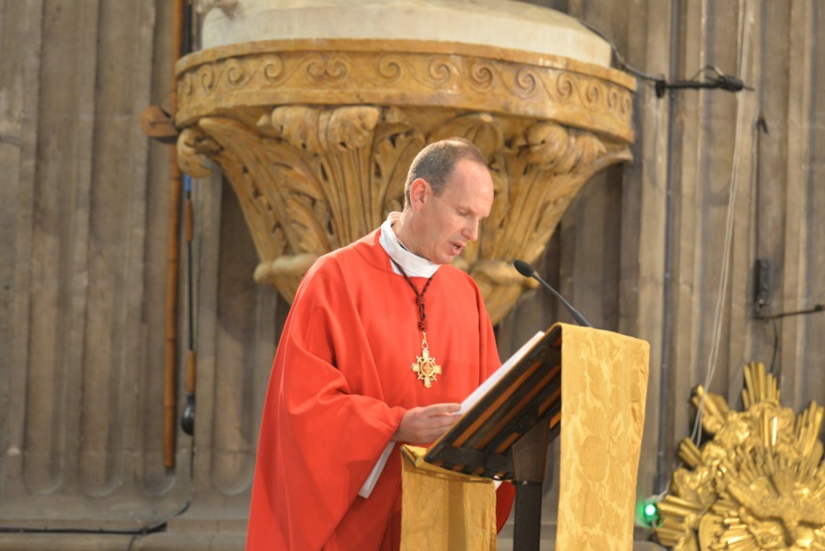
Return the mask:
<svg viewBox="0 0 825 551"><path fill-rule="evenodd" d="M407 409L460 403L501 364L474 280L441 266L426 299L442 373L424 388L410 369L422 341L415 295L379 233L320 258L295 295L266 393L247 551L398 549L398 450L370 497L358 491ZM500 528L512 486L498 497Z"/></svg>

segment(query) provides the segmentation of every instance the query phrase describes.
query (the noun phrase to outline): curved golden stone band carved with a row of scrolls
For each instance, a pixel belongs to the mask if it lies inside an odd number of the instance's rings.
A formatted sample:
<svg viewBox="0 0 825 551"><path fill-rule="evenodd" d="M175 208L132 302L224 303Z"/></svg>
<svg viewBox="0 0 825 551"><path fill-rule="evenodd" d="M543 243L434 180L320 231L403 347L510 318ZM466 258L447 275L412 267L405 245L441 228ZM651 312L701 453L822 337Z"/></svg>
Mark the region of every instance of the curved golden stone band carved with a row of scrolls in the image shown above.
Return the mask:
<svg viewBox="0 0 825 551"><path fill-rule="evenodd" d="M178 127L239 106L441 106L554 120L632 143L635 81L548 54L426 40L264 40L177 64Z"/></svg>

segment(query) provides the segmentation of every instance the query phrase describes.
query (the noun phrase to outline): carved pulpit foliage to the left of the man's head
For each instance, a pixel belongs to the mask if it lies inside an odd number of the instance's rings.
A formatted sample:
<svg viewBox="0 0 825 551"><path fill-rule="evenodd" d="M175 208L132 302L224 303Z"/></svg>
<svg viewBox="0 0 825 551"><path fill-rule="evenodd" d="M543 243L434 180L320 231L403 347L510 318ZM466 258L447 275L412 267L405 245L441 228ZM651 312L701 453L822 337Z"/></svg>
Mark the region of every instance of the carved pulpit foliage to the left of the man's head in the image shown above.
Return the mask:
<svg viewBox="0 0 825 551"><path fill-rule="evenodd" d="M178 151L187 172L203 176L198 153L219 165L261 258L255 280L291 300L319 256L400 210L405 167L423 144L397 110L282 106L254 127L201 119L181 133Z"/></svg>

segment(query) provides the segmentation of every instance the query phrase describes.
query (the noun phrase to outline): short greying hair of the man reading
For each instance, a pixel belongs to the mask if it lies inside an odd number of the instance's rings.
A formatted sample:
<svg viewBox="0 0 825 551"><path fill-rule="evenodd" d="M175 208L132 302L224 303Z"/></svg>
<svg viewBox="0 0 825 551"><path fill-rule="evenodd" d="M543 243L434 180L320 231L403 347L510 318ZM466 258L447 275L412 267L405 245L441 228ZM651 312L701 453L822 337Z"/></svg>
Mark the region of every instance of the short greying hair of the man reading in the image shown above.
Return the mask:
<svg viewBox="0 0 825 551"><path fill-rule="evenodd" d="M413 159L407 173L407 181L404 183L404 206L409 205L410 187L418 178L430 184L436 197L444 193L444 186L450 180L455 165L463 159L487 166L487 159L469 139L447 138L423 148Z"/></svg>

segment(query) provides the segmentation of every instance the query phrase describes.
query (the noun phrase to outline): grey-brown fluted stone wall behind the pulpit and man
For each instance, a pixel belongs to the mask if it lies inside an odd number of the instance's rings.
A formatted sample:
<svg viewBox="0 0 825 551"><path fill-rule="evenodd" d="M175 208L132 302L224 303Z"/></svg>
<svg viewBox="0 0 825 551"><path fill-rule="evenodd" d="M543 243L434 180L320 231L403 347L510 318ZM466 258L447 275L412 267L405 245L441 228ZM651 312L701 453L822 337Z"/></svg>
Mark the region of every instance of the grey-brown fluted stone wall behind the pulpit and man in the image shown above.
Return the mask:
<svg viewBox="0 0 825 551"><path fill-rule="evenodd" d="M771 263L767 312L825 303L825 12L817 0L543 3L599 27L647 73L715 65L755 88L659 99L640 82L634 162L587 184L537 266L592 323L652 344L648 495L690 431L723 266L710 389L731 403L742 363L770 365L774 350L774 325L752 312L754 261ZM242 546L287 306L252 282L257 257L232 191L197 181L196 434L178 434L177 467L164 469L167 149L138 118L168 107L170 11L163 0L0 2L0 525L129 531L189 508L152 535L0 533L2 549ZM569 321L535 291L497 327L502 356L556 319ZM799 410L825 395L825 313L775 327L783 402ZM547 506L552 521L552 491Z"/></svg>

